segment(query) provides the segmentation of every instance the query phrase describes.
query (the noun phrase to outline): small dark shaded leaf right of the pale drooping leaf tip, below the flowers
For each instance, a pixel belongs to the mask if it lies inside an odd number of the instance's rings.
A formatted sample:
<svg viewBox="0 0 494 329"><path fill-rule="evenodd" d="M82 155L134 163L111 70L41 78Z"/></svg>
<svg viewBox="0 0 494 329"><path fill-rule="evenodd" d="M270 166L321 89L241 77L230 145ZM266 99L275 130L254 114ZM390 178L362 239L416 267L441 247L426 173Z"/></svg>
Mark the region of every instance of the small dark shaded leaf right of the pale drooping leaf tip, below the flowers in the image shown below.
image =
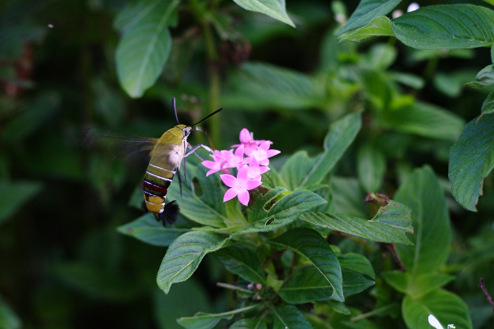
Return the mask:
<svg viewBox="0 0 494 329"><path fill-rule="evenodd" d="M266 275L255 252L246 246L230 246L218 250L214 256L232 273L253 283L266 284Z"/></svg>

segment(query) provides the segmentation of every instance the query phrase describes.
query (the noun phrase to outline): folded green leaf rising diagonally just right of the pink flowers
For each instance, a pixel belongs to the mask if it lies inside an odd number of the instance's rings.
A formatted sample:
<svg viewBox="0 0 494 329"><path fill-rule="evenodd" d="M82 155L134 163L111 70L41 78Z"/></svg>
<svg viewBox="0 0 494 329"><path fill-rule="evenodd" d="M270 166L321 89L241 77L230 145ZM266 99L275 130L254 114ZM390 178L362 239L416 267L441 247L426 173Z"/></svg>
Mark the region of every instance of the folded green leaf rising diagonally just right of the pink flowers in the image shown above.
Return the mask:
<svg viewBox="0 0 494 329"><path fill-rule="evenodd" d="M321 183L360 131L360 113L347 114L331 124L324 139L324 152L309 159L304 151L293 154L280 170L291 189Z"/></svg>

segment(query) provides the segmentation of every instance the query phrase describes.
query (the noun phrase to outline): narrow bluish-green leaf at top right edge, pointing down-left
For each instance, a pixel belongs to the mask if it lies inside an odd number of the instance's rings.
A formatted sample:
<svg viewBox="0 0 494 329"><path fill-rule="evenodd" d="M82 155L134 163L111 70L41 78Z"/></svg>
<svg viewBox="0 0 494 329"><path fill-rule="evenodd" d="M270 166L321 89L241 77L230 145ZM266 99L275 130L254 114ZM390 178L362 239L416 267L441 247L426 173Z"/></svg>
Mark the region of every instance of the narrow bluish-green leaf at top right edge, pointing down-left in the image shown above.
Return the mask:
<svg viewBox="0 0 494 329"><path fill-rule="evenodd" d="M338 31L339 36L350 30L360 28L371 22L375 17L386 15L396 7L401 0L362 0L353 12L348 22Z"/></svg>

